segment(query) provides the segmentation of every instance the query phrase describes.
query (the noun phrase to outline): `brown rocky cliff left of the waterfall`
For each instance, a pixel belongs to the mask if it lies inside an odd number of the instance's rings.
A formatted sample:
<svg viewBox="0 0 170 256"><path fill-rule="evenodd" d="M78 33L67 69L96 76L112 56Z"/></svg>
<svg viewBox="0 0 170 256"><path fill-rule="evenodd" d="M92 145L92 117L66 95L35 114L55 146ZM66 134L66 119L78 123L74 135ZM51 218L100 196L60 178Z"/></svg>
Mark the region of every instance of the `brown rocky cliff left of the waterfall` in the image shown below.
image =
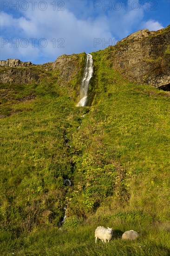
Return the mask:
<svg viewBox="0 0 170 256"><path fill-rule="evenodd" d="M81 56L80 56L81 55ZM29 62L22 62L17 59L0 61L0 83L33 83L41 82L48 72L55 74L58 84L72 87L72 81L81 75L80 70L84 68L86 54L63 54L54 62L42 65L35 65ZM74 89L74 88L72 88Z"/></svg>

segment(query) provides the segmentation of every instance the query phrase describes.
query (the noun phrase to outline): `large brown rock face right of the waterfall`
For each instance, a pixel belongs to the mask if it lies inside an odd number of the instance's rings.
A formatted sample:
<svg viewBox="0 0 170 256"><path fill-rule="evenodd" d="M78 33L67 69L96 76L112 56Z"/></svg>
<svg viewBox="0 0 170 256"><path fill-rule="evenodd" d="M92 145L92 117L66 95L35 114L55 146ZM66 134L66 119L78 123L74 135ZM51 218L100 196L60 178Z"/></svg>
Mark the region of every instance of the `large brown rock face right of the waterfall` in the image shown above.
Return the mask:
<svg viewBox="0 0 170 256"><path fill-rule="evenodd" d="M170 26L139 30L110 50L112 67L127 80L170 90Z"/></svg>

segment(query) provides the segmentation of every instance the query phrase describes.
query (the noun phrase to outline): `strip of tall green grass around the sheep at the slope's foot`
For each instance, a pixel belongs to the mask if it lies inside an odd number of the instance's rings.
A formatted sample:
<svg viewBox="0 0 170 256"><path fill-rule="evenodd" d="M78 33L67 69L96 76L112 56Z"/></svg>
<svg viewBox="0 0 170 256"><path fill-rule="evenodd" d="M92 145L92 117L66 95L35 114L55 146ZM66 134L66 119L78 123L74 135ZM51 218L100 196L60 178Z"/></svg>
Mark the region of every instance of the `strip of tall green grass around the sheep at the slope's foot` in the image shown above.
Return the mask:
<svg viewBox="0 0 170 256"><path fill-rule="evenodd" d="M95 243L94 230L97 221L91 220L84 225L72 229L41 229L38 233L16 238L10 232L3 232L0 236L1 255L116 255L116 256L168 256L170 252L169 234L157 226L146 231L141 221L127 221L122 219L102 222L102 225L114 227L110 243ZM100 222L101 223L101 222ZM146 223L145 223L146 224ZM140 232L135 241L125 241L121 236L125 230L133 227ZM6 241L5 241L5 239Z"/></svg>

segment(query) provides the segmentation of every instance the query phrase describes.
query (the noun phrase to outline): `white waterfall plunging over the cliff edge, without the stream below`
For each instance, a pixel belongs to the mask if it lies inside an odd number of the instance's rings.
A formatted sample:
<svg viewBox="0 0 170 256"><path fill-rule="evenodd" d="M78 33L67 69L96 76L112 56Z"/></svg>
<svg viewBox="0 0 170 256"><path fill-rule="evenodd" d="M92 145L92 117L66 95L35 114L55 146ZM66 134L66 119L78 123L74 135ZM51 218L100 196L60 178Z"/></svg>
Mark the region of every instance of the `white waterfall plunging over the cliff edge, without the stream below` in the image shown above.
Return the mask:
<svg viewBox="0 0 170 256"><path fill-rule="evenodd" d="M89 89L89 82L92 78L93 74L93 59L91 54L87 54L87 61L85 72L83 75L83 80L81 83L81 91L80 91L80 101L77 104L77 107L84 107L87 104L87 96L88 96L88 89Z"/></svg>

